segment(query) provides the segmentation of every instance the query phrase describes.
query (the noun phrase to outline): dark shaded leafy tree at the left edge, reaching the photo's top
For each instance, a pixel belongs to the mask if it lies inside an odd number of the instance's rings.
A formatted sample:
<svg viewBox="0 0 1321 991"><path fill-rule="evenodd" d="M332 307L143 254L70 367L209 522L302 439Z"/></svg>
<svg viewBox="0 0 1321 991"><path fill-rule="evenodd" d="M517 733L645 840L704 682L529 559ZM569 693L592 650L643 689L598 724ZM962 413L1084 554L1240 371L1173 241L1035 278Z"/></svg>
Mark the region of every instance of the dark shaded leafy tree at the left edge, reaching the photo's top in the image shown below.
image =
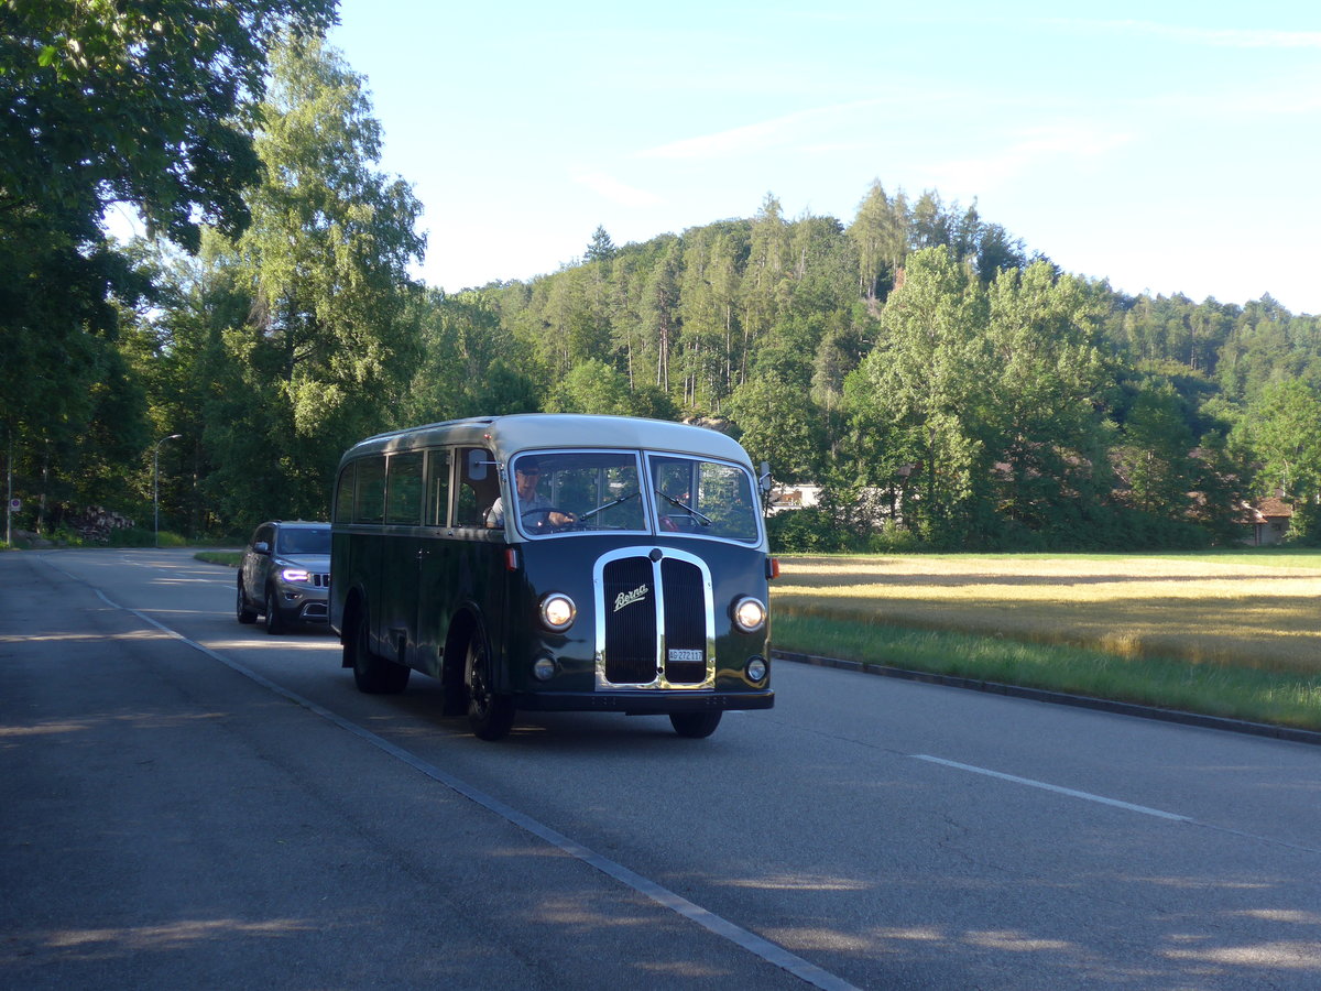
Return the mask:
<svg viewBox="0 0 1321 991"><path fill-rule="evenodd" d="M147 288L104 209L129 203L188 248L199 222L242 230L267 48L333 18L334 0L0 0L0 392L8 447L48 481L98 470L59 435L96 432L82 398L108 381L120 308Z"/></svg>

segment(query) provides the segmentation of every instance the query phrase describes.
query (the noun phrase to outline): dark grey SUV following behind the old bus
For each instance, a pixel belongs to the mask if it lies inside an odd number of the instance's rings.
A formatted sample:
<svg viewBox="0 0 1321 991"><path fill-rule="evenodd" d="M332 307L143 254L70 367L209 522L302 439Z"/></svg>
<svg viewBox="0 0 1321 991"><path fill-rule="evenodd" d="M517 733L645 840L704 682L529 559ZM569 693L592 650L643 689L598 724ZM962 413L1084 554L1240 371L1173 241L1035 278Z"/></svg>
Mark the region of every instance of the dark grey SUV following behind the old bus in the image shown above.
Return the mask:
<svg viewBox="0 0 1321 991"><path fill-rule="evenodd" d="M239 564L239 622L264 614L267 633L326 622L329 595L329 523L272 521L256 529Z"/></svg>

